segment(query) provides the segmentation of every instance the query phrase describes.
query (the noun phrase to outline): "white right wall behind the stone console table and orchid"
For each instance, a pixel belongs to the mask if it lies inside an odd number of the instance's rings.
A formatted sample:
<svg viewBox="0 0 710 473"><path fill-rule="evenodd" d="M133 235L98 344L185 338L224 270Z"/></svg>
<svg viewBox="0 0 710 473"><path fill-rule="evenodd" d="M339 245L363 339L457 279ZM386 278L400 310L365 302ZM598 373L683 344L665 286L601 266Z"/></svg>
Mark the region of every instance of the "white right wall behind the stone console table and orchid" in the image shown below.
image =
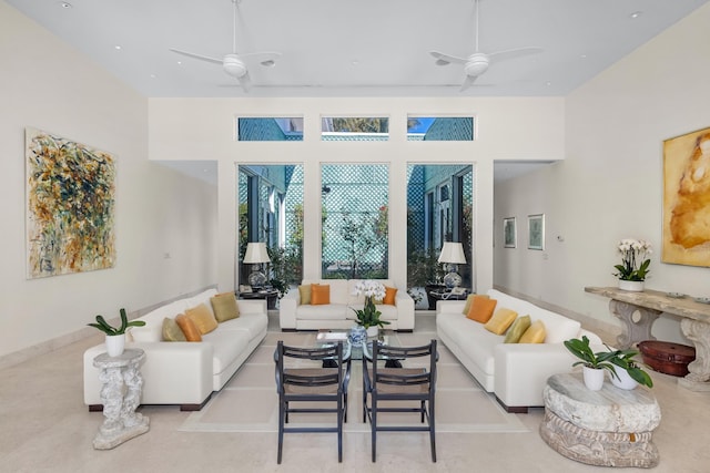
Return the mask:
<svg viewBox="0 0 710 473"><path fill-rule="evenodd" d="M608 300L584 288L616 285L617 243L635 237L655 247L648 288L710 295L710 269L660 261L662 142L710 126L709 23L710 4L566 99L566 161L496 188L496 285L618 326ZM545 251L526 249L526 218L537 213L546 214ZM516 249L503 248L510 216ZM683 341L677 320L653 330Z"/></svg>

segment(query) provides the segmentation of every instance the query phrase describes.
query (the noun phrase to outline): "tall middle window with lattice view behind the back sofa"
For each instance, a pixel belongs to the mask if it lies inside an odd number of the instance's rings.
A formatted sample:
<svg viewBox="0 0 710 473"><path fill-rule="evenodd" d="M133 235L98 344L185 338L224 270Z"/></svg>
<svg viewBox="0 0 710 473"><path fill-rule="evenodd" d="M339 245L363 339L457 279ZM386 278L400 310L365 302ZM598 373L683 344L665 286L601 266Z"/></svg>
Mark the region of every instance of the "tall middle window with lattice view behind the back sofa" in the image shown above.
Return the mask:
<svg viewBox="0 0 710 473"><path fill-rule="evenodd" d="M387 278L387 165L325 164L321 178L323 278Z"/></svg>

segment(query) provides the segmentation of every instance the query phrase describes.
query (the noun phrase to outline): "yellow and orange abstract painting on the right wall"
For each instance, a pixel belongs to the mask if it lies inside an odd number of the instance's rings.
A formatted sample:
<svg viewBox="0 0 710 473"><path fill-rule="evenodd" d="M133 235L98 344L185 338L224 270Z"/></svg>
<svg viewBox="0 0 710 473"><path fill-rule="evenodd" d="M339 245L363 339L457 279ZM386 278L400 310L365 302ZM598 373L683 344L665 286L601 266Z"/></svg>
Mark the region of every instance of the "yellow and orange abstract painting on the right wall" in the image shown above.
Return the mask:
<svg viewBox="0 0 710 473"><path fill-rule="evenodd" d="M710 266L710 128L663 142L662 261Z"/></svg>

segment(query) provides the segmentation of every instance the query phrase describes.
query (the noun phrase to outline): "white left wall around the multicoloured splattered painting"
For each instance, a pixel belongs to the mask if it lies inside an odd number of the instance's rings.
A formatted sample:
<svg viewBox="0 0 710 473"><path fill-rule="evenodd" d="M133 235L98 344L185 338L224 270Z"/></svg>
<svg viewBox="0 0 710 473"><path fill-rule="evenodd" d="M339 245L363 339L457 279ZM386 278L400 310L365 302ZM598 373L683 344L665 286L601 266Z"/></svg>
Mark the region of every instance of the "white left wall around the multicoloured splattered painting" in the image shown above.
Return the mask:
<svg viewBox="0 0 710 473"><path fill-rule="evenodd" d="M148 161L148 100L4 2L0 64L0 358L215 284L216 189ZM114 268L26 279L26 126L118 157Z"/></svg>

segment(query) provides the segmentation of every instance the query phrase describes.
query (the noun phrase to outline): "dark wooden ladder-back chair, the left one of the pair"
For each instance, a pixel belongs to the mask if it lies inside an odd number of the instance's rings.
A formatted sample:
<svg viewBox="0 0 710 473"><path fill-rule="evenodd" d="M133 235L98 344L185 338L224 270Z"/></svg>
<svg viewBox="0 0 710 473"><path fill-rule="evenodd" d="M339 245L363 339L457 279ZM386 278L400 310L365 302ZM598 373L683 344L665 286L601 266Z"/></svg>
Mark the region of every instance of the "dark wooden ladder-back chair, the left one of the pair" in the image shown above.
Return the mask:
<svg viewBox="0 0 710 473"><path fill-rule="evenodd" d="M317 363L313 368L286 368L286 358ZM278 393L277 463L281 464L284 433L304 432L337 432L337 461L342 462L343 423L347 421L347 384L351 378L349 350L344 357L342 341L321 348L288 347L278 341L274 361ZM336 368L323 368L324 362L337 364ZM336 422L333 426L288 426L291 413L335 413Z"/></svg>

